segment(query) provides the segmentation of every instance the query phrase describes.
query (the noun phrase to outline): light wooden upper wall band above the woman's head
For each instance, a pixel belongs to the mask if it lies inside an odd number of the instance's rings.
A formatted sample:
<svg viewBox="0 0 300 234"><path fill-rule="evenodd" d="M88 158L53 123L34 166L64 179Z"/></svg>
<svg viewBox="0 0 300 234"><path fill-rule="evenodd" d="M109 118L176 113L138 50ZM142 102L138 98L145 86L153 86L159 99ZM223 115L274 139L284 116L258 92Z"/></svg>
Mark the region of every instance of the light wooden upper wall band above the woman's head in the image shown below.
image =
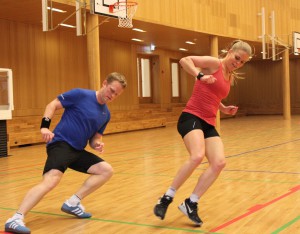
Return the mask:
<svg viewBox="0 0 300 234"><path fill-rule="evenodd" d="M260 41L265 8L266 34L271 35L270 15L275 11L276 35L288 42L300 29L298 0L137 0L135 19L214 35Z"/></svg>

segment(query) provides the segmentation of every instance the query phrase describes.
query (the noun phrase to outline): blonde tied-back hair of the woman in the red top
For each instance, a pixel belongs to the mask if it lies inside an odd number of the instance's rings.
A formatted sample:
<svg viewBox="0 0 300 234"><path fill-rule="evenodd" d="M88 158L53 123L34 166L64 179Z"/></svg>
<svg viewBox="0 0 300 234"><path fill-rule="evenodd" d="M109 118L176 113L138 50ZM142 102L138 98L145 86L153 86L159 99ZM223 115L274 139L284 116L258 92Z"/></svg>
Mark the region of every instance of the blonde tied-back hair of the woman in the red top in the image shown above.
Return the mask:
<svg viewBox="0 0 300 234"><path fill-rule="evenodd" d="M251 46L247 42L242 41L242 40L233 41L226 49L222 50L225 52L220 54L220 58L225 58L230 50L232 50L232 51L242 50L242 51L246 52L249 55L249 60L253 57ZM244 79L244 77L241 76L242 74L243 73L238 73L238 72L232 71L230 73L229 79L232 83L236 79Z"/></svg>

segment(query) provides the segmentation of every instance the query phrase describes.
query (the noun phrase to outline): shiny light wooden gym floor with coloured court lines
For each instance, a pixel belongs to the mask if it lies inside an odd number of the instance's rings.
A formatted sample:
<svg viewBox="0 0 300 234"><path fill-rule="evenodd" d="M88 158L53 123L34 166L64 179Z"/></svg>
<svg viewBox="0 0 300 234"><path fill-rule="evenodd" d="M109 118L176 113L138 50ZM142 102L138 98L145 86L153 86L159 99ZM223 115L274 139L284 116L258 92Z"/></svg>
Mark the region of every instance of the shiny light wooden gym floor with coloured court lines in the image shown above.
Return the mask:
<svg viewBox="0 0 300 234"><path fill-rule="evenodd" d="M177 206L190 195L204 161L177 192L165 220L153 207L187 158L176 126L107 135L102 157L115 174L83 200L93 217L60 211L86 175L68 170L61 183L27 215L34 234L295 234L300 233L300 116L221 120L227 166L201 198L195 227ZM25 193L41 180L45 146L13 148L0 158L0 233Z"/></svg>

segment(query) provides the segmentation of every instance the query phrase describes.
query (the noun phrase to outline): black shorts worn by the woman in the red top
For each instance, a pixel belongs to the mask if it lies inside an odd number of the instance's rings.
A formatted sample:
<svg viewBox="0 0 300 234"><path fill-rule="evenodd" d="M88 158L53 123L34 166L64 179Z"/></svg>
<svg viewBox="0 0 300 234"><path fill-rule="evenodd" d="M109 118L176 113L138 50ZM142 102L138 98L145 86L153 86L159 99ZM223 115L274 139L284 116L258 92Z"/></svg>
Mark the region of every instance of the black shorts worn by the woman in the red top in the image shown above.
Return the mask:
<svg viewBox="0 0 300 234"><path fill-rule="evenodd" d="M213 125L206 123L203 119L193 114L182 112L177 123L177 130L181 137L183 138L186 134L195 129L201 129L204 138L220 136Z"/></svg>

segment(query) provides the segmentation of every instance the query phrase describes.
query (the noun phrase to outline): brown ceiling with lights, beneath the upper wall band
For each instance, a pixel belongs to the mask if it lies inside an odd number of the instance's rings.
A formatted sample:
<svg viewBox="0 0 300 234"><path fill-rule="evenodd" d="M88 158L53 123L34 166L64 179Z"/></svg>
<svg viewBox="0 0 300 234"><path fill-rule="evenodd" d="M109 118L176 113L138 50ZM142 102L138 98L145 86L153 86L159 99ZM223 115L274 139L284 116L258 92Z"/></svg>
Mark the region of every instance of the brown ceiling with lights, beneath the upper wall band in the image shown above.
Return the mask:
<svg viewBox="0 0 300 234"><path fill-rule="evenodd" d="M75 4L75 1L70 1ZM42 30L42 1L41 0L0 0L0 18L10 21L17 21L26 24L40 25ZM75 6L65 5L52 1L52 7L66 11L66 13L52 13L53 28L56 28L60 23L76 25ZM87 10L89 13L89 10ZM108 19L108 20L106 20ZM99 16L100 36L107 39L136 43L150 46L154 44L156 48L178 51L179 48L187 49L187 53L195 55L210 54L209 35L190 30L178 29L148 22L133 20L135 28L145 30L145 33L136 32L128 28L119 28L118 19L105 18ZM76 34L76 29L65 28L59 26L63 30L73 30ZM132 38L142 39L143 42L134 42ZM226 48L233 38L218 37L219 48ZM195 45L186 44L186 41L195 42ZM200 43L201 42L201 43ZM255 47L255 51L261 51L261 43L251 42ZM256 53L255 59L261 59L261 54Z"/></svg>

